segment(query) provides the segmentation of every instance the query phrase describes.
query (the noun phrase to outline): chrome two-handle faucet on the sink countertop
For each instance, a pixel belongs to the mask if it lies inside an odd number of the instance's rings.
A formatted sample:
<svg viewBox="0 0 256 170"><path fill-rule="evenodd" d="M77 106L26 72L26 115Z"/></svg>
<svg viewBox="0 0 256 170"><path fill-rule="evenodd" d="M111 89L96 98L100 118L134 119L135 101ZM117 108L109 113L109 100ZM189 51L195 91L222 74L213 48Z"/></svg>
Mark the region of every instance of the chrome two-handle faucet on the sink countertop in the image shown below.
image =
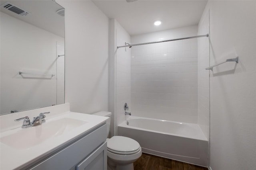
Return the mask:
<svg viewBox="0 0 256 170"><path fill-rule="evenodd" d="M32 126L36 126L36 125L40 125L40 124L44 123L45 122L44 118L46 117L46 115L44 115L44 114L49 114L49 113L50 113L50 111L45 112L45 113L40 113L39 116L34 117L32 122L30 122L30 119L28 116L22 117L20 119L15 119L14 121L20 121L20 120L24 119L21 127L22 128L32 127Z"/></svg>

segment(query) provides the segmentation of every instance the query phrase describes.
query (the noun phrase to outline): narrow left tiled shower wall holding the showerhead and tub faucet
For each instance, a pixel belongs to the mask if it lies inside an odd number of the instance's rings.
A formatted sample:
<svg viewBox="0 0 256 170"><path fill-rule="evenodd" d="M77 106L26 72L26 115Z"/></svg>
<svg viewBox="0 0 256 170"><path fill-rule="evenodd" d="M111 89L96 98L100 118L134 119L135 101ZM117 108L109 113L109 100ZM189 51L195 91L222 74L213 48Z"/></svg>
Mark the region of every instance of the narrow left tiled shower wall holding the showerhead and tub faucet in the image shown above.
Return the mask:
<svg viewBox="0 0 256 170"><path fill-rule="evenodd" d="M115 20L116 46L131 43L130 35ZM116 50L116 125L125 120L124 103L131 111L131 49L129 47Z"/></svg>

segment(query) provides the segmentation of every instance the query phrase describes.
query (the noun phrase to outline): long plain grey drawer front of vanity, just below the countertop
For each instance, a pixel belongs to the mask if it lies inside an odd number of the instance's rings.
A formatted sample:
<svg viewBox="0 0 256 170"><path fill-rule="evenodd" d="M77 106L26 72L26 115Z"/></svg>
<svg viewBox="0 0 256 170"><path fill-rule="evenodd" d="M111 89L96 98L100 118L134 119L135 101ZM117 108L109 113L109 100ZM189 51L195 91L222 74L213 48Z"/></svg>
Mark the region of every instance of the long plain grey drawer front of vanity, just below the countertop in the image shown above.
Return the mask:
<svg viewBox="0 0 256 170"><path fill-rule="evenodd" d="M82 139L37 164L31 170L70 170L106 141L107 126L102 125ZM105 146L105 145L104 145Z"/></svg>

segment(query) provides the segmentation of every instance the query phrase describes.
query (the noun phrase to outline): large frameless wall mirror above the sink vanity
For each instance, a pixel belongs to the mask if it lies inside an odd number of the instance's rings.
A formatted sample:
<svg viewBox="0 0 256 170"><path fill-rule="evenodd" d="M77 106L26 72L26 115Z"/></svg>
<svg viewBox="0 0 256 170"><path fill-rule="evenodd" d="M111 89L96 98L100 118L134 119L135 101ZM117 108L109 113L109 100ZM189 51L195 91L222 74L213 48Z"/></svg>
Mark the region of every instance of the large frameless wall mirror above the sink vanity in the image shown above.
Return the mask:
<svg viewBox="0 0 256 170"><path fill-rule="evenodd" d="M64 104L64 8L1 0L0 114Z"/></svg>

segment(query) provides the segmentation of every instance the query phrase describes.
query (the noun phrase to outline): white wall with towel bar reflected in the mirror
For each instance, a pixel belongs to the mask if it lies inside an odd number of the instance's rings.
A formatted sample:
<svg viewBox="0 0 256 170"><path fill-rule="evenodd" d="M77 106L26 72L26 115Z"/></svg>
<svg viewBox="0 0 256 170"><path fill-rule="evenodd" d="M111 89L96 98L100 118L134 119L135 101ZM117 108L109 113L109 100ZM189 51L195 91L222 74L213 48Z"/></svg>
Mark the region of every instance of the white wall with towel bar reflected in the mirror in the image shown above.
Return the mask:
<svg viewBox="0 0 256 170"><path fill-rule="evenodd" d="M56 43L64 38L1 12L1 41L1 113L55 105Z"/></svg>

